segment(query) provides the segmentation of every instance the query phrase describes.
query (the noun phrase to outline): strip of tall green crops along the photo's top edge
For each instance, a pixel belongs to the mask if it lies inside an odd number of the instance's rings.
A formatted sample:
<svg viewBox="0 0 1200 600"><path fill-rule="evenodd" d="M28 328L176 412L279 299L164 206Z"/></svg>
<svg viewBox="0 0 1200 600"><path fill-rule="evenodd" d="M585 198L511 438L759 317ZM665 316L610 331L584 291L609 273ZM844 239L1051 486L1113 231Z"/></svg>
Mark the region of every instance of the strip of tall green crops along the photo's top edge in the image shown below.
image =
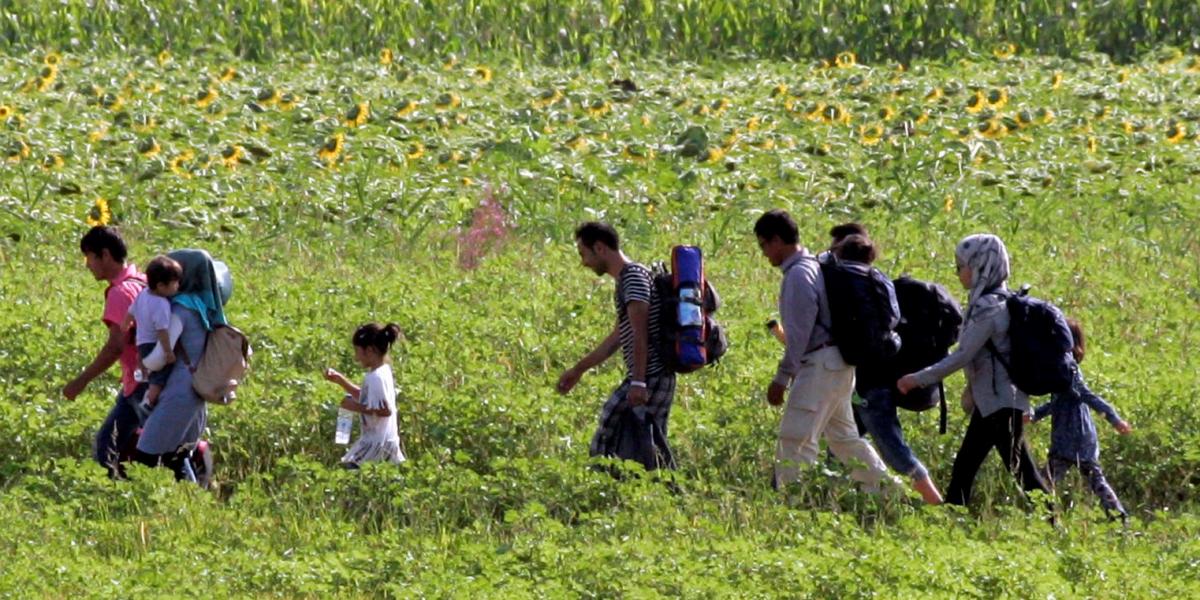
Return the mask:
<svg viewBox="0 0 1200 600"><path fill-rule="evenodd" d="M714 53L880 60L1027 50L1117 59L1158 44L1200 47L1193 0L85 0L0 1L0 50L226 49L248 59L298 52L503 52L588 62L611 52L701 59Z"/></svg>

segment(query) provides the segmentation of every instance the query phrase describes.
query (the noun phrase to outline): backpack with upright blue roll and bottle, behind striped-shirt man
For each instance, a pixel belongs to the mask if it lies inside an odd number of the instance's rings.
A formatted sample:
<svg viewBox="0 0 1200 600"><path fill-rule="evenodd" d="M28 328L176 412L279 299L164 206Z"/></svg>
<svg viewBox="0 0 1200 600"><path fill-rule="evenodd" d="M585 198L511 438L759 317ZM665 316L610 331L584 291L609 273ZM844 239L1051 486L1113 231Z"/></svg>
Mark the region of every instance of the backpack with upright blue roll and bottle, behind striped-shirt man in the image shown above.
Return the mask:
<svg viewBox="0 0 1200 600"><path fill-rule="evenodd" d="M690 373L721 359L730 348L725 329L713 318L721 299L704 277L696 246L671 248L671 271L652 268L659 302L659 356L676 373Z"/></svg>

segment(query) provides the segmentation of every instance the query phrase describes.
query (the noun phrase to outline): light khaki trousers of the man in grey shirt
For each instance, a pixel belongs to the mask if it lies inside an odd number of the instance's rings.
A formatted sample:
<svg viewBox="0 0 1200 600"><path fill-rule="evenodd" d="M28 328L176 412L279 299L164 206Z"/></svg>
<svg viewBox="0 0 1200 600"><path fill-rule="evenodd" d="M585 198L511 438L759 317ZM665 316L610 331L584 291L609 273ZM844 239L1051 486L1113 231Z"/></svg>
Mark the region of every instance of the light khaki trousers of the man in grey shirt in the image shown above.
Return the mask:
<svg viewBox="0 0 1200 600"><path fill-rule="evenodd" d="M851 478L877 488L888 476L887 467L858 434L850 396L854 391L854 368L846 365L836 347L816 350L792 380L775 446L775 485L799 480L799 467L817 462L823 434L829 450L851 467Z"/></svg>

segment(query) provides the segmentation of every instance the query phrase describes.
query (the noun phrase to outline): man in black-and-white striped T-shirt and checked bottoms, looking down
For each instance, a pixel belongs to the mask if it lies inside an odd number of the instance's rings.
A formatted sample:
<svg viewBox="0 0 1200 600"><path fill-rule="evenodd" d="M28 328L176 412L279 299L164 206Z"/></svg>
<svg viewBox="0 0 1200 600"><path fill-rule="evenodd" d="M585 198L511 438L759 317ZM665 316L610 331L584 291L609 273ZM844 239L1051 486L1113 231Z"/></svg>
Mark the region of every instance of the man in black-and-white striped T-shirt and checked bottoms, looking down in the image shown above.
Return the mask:
<svg viewBox="0 0 1200 600"><path fill-rule="evenodd" d="M625 359L625 378L600 410L600 424L592 438L592 456L617 456L617 428L624 410L640 418L666 440L667 418L674 400L674 372L659 353L659 305L649 269L620 251L620 239L607 223L588 222L575 230L576 250L583 266L596 275L617 280L614 300L617 323L595 349L580 359L558 379L558 392L568 394L589 368L602 364L617 348ZM660 449L668 463L670 450ZM628 458L626 456L622 456Z"/></svg>

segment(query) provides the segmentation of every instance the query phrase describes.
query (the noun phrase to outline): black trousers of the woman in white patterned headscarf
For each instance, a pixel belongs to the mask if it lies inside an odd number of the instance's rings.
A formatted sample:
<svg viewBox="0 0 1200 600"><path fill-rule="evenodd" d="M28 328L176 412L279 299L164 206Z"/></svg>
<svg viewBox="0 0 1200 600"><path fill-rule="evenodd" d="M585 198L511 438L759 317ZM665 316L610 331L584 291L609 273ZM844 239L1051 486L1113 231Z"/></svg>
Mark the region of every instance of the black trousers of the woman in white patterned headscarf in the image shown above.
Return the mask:
<svg viewBox="0 0 1200 600"><path fill-rule="evenodd" d="M976 409L971 413L967 434L962 438L959 454L954 457L950 486L946 490L948 504L965 505L971 502L976 474L992 448L1000 454L1008 470L1020 480L1026 492L1040 490L1050 493L1050 487L1042 479L1030 455L1030 445L1025 442L1021 412L1015 408L1002 408L983 416Z"/></svg>

